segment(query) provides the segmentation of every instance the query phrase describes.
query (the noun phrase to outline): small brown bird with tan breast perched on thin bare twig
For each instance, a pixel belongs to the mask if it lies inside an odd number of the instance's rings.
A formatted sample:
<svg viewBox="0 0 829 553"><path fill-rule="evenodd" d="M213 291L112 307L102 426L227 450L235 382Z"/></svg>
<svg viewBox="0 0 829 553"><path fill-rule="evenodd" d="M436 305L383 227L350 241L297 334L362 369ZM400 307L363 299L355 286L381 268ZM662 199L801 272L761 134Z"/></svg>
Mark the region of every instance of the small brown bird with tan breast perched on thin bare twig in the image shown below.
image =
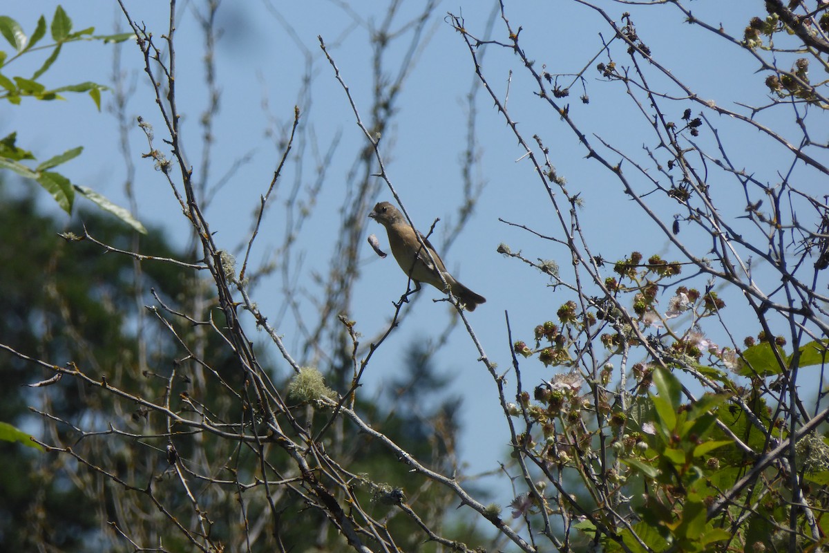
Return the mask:
<svg viewBox="0 0 829 553"><path fill-rule="evenodd" d="M440 274L443 274L453 296L458 298L461 303L465 303L469 311L474 311L478 307L478 303L487 301L486 298L474 293L455 280L451 274L448 274L444 261L440 259L438 253L434 250L434 246L429 243L424 235L419 232L415 234L416 231L411 227L409 221L406 221L403 214L397 211L397 208L388 201L381 201L374 206L374 211L371 211L368 216L385 226L385 231L389 235L391 253L395 256L400 269L403 269L403 272L408 274L414 282L415 292L420 289L421 282L431 284L441 291L446 291L446 286L440 279ZM423 243L429 249L429 254L432 255L431 260L423 245L420 244L418 236L423 239ZM434 260L434 264L432 260ZM437 264L437 268L435 268L435 264Z"/></svg>

